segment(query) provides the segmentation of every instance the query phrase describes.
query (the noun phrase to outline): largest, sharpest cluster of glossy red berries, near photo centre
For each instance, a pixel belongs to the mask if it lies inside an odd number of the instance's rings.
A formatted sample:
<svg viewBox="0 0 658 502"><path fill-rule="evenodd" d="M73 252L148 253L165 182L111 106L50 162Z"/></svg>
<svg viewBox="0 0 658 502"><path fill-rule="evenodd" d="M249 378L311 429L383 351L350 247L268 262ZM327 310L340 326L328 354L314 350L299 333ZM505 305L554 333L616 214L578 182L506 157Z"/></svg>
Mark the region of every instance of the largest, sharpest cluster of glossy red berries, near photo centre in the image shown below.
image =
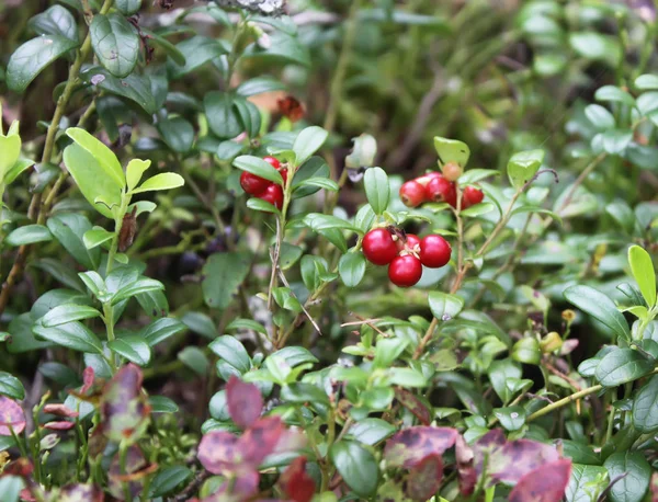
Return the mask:
<svg viewBox="0 0 658 502"><path fill-rule="evenodd" d="M441 236L419 239L395 227L375 228L362 242L363 254L375 265L388 265L388 278L400 287L410 287L420 281L422 265L439 269L450 261L452 249Z"/></svg>

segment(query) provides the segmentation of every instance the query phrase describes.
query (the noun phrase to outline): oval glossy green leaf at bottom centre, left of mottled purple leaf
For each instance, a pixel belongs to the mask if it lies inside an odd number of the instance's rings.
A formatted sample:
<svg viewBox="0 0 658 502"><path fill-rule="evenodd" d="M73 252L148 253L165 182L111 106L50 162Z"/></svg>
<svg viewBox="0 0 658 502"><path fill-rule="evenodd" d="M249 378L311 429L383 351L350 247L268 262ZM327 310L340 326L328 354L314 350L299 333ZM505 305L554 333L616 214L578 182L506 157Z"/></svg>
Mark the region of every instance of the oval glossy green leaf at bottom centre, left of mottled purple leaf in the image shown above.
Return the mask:
<svg viewBox="0 0 658 502"><path fill-rule="evenodd" d="M333 443L330 450L333 465L354 493L370 498L379 482L377 460L371 452L354 441Z"/></svg>

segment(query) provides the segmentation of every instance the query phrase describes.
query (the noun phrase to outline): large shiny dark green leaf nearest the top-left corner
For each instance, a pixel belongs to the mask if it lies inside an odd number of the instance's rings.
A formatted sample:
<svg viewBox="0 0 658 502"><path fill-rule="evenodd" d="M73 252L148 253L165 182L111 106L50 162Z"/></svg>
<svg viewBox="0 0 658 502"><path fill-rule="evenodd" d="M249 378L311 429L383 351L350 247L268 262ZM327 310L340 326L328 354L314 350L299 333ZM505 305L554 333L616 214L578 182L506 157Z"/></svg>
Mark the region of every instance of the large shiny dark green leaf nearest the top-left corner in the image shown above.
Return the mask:
<svg viewBox="0 0 658 502"><path fill-rule="evenodd" d="M7 65L7 87L14 92L23 92L27 85L50 62L78 46L59 35L39 36L21 45Z"/></svg>

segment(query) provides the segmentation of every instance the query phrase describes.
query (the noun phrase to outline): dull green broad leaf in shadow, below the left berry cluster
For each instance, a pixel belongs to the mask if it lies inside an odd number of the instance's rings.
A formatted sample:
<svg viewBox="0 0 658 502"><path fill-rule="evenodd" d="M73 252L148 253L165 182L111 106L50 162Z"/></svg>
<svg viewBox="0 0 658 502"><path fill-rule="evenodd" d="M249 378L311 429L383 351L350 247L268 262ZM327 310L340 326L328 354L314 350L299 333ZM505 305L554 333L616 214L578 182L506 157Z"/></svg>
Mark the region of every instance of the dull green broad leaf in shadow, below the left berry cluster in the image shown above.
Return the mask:
<svg viewBox="0 0 658 502"><path fill-rule="evenodd" d="M245 252L212 254L203 267L203 297L211 308L225 309L238 294L238 288L251 269Z"/></svg>

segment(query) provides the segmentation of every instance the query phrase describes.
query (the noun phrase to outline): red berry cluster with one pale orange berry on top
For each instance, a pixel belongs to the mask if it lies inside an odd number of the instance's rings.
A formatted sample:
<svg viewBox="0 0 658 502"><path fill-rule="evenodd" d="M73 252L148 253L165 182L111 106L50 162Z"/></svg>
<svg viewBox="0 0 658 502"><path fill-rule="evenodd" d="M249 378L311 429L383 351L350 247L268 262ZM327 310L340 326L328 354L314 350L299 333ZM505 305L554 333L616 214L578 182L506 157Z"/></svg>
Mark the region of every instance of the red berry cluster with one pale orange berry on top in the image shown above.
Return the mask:
<svg viewBox="0 0 658 502"><path fill-rule="evenodd" d="M454 162L443 166L443 174L434 171L400 186L400 199L407 207L417 207L426 202L444 202L457 207L457 186L455 181L462 174L462 168ZM462 209L479 204L485 198L481 190L466 186L462 192Z"/></svg>

